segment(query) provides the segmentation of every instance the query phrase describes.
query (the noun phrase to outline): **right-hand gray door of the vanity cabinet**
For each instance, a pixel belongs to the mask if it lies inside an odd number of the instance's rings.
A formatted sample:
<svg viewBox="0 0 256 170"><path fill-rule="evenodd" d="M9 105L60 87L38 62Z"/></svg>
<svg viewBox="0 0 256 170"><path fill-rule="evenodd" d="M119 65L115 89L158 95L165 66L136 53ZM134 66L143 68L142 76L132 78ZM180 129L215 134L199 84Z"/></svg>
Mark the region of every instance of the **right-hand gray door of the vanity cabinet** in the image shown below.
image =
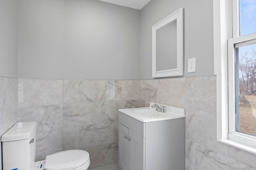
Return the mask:
<svg viewBox="0 0 256 170"><path fill-rule="evenodd" d="M129 131L129 170L145 170L145 138Z"/></svg>

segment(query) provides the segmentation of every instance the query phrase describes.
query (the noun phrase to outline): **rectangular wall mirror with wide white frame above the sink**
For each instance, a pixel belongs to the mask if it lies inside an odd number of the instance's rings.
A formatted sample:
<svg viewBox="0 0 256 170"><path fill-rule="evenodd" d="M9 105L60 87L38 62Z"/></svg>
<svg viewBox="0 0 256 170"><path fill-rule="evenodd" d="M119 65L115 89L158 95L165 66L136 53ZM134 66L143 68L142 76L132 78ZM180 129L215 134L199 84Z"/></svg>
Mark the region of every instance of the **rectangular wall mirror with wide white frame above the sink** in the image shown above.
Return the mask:
<svg viewBox="0 0 256 170"><path fill-rule="evenodd" d="M183 75L183 9L152 27L152 77Z"/></svg>

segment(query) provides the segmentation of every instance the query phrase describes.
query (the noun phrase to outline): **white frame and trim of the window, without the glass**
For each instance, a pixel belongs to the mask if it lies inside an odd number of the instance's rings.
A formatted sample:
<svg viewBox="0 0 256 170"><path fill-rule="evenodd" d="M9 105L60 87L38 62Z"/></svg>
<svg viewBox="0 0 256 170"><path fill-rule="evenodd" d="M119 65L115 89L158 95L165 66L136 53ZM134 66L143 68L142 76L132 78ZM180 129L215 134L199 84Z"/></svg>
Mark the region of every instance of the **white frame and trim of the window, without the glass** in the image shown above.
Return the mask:
<svg viewBox="0 0 256 170"><path fill-rule="evenodd" d="M256 39L256 33L239 37L238 2L213 1L217 140L256 154L256 137L235 131L235 47L249 45Z"/></svg>

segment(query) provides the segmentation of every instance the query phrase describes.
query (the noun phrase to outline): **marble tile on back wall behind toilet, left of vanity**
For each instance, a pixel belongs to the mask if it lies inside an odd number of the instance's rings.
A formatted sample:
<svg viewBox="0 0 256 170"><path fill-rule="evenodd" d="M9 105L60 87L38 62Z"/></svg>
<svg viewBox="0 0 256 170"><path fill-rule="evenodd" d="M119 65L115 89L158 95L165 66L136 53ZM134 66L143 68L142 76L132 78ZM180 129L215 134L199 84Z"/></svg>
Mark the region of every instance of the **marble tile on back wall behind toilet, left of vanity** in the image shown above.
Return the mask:
<svg viewBox="0 0 256 170"><path fill-rule="evenodd" d="M37 122L36 160L84 149L94 168L118 162L118 109L139 99L140 80L20 79L18 121Z"/></svg>

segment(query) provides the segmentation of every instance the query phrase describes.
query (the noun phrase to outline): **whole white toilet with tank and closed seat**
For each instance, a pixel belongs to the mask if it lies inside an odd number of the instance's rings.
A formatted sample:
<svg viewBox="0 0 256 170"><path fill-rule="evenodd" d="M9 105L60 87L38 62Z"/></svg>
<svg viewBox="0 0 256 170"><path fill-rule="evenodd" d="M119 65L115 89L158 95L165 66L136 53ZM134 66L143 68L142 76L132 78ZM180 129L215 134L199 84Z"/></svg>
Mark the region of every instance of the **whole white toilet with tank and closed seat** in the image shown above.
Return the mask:
<svg viewBox="0 0 256 170"><path fill-rule="evenodd" d="M3 170L87 170L89 153L64 150L35 162L36 122L16 123L1 137Z"/></svg>

